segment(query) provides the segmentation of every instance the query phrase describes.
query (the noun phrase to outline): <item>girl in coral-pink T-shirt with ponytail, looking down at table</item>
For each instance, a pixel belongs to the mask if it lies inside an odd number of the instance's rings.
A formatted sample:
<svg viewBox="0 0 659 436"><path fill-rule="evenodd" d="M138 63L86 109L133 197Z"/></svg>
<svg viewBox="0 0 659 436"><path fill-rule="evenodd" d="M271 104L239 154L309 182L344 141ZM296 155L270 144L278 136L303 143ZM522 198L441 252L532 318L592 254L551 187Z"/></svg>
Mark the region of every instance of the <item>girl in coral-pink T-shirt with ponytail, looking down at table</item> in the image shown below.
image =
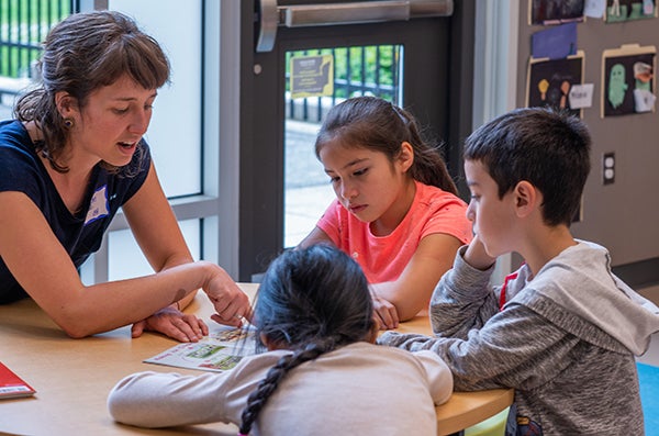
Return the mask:
<svg viewBox="0 0 659 436"><path fill-rule="evenodd" d="M411 113L375 97L334 107L315 143L336 200L300 243L330 243L364 269L380 328L427 309L457 249L471 241L439 149Z"/></svg>

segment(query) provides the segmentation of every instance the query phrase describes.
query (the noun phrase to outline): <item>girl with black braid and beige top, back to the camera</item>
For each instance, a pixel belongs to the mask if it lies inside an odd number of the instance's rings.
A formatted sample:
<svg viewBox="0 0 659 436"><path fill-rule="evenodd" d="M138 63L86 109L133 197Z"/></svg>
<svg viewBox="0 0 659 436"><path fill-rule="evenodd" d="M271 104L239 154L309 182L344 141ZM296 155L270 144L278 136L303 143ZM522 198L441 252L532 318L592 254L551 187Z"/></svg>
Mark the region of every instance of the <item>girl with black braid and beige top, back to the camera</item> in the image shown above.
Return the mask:
<svg viewBox="0 0 659 436"><path fill-rule="evenodd" d="M436 435L435 404L453 377L433 353L373 344L378 328L360 267L325 244L270 265L254 308L268 351L230 371L139 372L109 396L114 420L142 427L211 422L239 435Z"/></svg>

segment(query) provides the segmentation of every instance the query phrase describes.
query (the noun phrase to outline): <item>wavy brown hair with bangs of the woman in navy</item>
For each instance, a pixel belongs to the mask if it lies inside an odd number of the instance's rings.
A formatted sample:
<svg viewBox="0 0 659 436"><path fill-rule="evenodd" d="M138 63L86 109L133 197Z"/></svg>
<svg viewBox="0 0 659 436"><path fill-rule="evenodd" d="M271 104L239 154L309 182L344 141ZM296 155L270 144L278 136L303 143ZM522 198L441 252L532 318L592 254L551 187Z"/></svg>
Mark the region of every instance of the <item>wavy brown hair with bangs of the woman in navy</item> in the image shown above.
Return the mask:
<svg viewBox="0 0 659 436"><path fill-rule="evenodd" d="M36 69L41 82L18 100L14 113L22 122L36 123L43 135L36 149L60 172L68 170L57 164L68 132L55 103L57 92L69 93L82 109L91 92L124 75L144 89L158 89L170 74L158 43L116 11L77 13L56 24Z"/></svg>

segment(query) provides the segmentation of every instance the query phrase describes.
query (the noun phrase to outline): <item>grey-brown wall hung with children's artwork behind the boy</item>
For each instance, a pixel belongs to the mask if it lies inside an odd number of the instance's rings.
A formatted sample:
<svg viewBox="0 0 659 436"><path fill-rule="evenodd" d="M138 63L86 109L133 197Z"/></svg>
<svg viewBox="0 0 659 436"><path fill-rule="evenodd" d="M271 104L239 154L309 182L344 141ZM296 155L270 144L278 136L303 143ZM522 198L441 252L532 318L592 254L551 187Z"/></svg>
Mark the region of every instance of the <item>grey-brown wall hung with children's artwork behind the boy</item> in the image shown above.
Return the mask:
<svg viewBox="0 0 659 436"><path fill-rule="evenodd" d="M557 80L566 78L570 83L581 82L572 85L576 92L570 92L571 97L590 92L590 104L577 110L591 133L591 172L581 217L571 231L577 238L605 246L614 268L639 268L643 273L636 277L652 280L659 280L659 226L648 223L659 222L659 203L647 199L656 198L659 187L658 2L588 0L580 11L577 2L522 0L514 71L517 108L556 102L549 91L556 89ZM577 27L572 40L572 33L560 32L560 27L571 25ZM556 47L555 40L534 44L537 35L547 31L556 31L548 33L558 34L563 43L562 51L551 51L549 60L534 55L538 46ZM576 46L574 52L569 51L570 55L578 53L576 59L565 55L567 41ZM547 80L546 100L536 75ZM565 91L552 92L565 96ZM639 94L638 103L635 93ZM607 156L614 161L614 178L608 181L604 177Z"/></svg>

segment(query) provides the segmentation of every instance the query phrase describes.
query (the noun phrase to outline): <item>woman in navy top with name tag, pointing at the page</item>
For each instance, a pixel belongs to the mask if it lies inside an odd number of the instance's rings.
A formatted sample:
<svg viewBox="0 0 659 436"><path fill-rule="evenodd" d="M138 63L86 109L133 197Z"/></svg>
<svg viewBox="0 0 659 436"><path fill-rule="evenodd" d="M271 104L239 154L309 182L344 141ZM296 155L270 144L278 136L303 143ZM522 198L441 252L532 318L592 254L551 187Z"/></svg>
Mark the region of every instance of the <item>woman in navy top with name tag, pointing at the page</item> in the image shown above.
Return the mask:
<svg viewBox="0 0 659 436"><path fill-rule="evenodd" d="M202 289L214 321L241 325L247 297L193 261L143 138L169 81L158 43L119 12L78 13L53 27L37 70L0 123L0 303L30 297L74 338L132 324L133 337L194 342L208 326L181 310ZM120 208L155 273L85 286L78 267Z"/></svg>

